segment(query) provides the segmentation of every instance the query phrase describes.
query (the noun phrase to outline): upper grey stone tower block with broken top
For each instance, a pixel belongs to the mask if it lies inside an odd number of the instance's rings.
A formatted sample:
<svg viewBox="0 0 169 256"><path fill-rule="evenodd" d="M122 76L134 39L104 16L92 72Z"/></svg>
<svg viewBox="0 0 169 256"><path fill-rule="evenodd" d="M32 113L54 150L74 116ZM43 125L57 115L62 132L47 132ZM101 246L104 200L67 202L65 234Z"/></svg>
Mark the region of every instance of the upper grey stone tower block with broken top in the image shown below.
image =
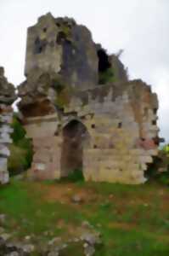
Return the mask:
<svg viewBox="0 0 169 256"><path fill-rule="evenodd" d="M27 33L25 75L34 69L59 73L65 83L81 89L98 83L98 57L91 33L69 18L49 13L38 19Z"/></svg>

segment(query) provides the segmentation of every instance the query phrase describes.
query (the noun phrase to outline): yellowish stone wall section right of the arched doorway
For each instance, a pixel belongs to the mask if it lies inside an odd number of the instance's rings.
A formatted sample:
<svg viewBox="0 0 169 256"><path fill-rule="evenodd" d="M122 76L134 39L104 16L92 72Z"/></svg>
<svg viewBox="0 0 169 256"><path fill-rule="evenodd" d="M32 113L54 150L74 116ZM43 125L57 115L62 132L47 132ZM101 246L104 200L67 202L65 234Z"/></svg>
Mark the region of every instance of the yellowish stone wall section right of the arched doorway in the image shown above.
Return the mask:
<svg viewBox="0 0 169 256"><path fill-rule="evenodd" d="M156 95L142 81L110 86L106 95L105 90L98 90L98 96L96 90L91 91L87 106L78 98L72 100L72 109L69 108L84 117L83 123L91 135L91 148L84 154L85 177L94 181L143 183L147 164L158 153Z"/></svg>

